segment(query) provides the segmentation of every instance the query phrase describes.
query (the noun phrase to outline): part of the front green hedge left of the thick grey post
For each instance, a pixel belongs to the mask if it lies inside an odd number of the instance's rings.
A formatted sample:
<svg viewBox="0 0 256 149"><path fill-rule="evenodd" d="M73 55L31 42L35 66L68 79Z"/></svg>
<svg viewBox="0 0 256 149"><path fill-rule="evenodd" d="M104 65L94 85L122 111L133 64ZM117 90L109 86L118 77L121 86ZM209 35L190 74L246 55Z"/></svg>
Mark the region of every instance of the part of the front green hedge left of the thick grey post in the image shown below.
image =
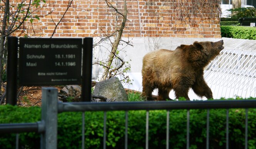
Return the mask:
<svg viewBox="0 0 256 149"><path fill-rule="evenodd" d="M41 109L39 107L18 107L4 105L0 106L0 124L1 123L34 123L40 121ZM1 134L0 148L13 149L15 148L16 134ZM20 146L25 148L33 148L40 145L40 134L35 132L22 133L19 135ZM21 147L19 147L21 148ZM40 146L39 146L40 148Z"/></svg>

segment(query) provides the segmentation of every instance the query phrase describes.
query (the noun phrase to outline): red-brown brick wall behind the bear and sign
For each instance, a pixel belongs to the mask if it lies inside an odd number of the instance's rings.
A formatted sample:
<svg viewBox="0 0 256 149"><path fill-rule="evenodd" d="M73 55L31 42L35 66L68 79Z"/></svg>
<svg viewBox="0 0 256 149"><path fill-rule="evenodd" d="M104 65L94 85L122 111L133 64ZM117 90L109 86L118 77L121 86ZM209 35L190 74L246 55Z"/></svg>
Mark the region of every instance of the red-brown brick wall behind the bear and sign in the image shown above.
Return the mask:
<svg viewBox="0 0 256 149"><path fill-rule="evenodd" d="M13 35L51 36L69 2L47 0L37 8L40 20L35 19L33 25L27 21ZM122 1L111 4L124 12ZM219 0L127 0L127 10L125 37L221 38ZM122 17L105 0L73 0L54 37L106 36L118 30L121 22Z"/></svg>

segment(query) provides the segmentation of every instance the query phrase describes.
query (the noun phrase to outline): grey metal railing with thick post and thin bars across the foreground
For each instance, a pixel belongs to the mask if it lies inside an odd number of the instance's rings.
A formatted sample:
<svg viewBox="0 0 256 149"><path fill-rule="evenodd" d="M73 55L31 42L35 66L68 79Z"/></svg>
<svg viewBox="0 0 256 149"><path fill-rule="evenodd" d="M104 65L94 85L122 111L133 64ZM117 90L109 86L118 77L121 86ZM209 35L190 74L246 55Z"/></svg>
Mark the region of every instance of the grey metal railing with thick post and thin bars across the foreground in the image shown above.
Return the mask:
<svg viewBox="0 0 256 149"><path fill-rule="evenodd" d="M41 149L57 149L57 114L68 111L104 111L104 137L103 148L106 148L106 121L107 111L125 111L125 146L128 147L128 112L130 110L146 110L146 144L149 148L149 111L167 110L166 148L169 149L169 111L172 109L187 109L187 149L189 149L189 118L190 109L207 109L207 135L206 149L209 149L209 109L227 109L226 112L226 148L229 148L229 109L245 108L245 148L248 147L248 108L256 108L256 100L237 101L148 101L148 102L113 102L113 103L62 103L57 101L57 89L42 88L42 121L23 124L0 124L0 133L39 132L41 136ZM50 127L49 127L50 126ZM84 113L82 114L82 149L85 144ZM26 129L24 129L26 128ZM170 147L171 148L171 147Z"/></svg>

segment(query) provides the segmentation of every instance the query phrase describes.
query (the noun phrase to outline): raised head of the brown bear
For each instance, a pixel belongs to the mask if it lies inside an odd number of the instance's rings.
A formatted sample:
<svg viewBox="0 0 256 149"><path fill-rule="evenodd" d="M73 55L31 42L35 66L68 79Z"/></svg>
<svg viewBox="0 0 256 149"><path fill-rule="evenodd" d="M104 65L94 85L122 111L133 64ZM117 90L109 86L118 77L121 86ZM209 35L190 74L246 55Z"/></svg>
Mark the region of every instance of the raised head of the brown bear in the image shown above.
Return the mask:
<svg viewBox="0 0 256 149"><path fill-rule="evenodd" d="M219 55L220 51L224 49L223 40L211 42L195 41L189 51L189 61L194 63L197 66L206 66L208 63L213 60L216 56Z"/></svg>

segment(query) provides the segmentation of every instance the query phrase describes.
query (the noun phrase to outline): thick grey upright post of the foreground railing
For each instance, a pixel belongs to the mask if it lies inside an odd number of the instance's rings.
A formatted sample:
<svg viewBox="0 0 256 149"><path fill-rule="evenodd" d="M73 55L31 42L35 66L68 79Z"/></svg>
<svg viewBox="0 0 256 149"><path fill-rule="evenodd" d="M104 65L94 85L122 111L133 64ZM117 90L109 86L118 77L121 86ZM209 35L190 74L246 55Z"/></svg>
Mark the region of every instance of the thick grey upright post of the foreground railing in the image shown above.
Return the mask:
<svg viewBox="0 0 256 149"><path fill-rule="evenodd" d="M58 90L42 88L42 121L45 132L41 138L41 149L57 149Z"/></svg>

